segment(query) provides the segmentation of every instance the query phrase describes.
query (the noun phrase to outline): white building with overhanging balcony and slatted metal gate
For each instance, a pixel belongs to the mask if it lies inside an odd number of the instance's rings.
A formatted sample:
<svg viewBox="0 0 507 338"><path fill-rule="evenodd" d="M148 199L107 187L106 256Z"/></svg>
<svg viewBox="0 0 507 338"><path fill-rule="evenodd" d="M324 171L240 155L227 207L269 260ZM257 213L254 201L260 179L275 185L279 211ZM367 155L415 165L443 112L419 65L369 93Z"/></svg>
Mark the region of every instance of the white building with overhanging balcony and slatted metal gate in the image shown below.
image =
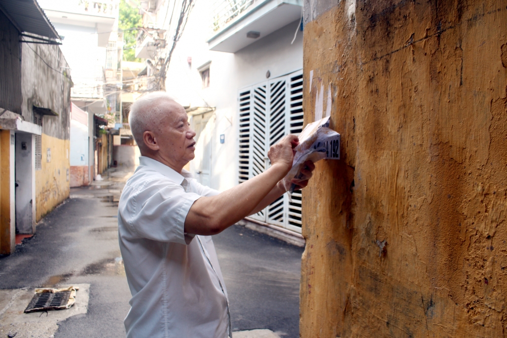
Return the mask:
<svg viewBox="0 0 507 338"><path fill-rule="evenodd" d="M172 41L178 6L172 20L166 13L173 1L141 6L150 30L139 34L136 56L153 58L160 45L153 32L166 31ZM226 190L265 171L270 145L301 131L302 6L302 0L195 3L171 57L166 91L187 108L196 130L190 171L201 183ZM284 195L249 219L298 236L301 194L292 202Z"/></svg>

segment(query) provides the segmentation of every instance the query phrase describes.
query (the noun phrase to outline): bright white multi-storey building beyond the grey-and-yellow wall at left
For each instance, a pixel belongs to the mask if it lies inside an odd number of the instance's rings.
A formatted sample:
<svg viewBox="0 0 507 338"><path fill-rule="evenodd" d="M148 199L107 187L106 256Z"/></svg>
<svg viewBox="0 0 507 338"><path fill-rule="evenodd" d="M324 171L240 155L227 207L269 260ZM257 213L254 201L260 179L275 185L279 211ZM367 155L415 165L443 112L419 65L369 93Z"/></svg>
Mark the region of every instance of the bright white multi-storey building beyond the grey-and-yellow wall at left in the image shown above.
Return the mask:
<svg viewBox="0 0 507 338"><path fill-rule="evenodd" d="M102 172L100 168L103 166L98 162L106 163L107 168L112 161L112 153L103 152L102 136L97 138L97 119L94 116L108 121L99 128L113 130L108 133L119 134L114 129L121 127L123 36L118 32L119 1L40 0L40 3L62 35L61 50L74 81L71 100L76 108L88 115L85 124L88 127L87 138L73 137L70 145L71 159L74 159L71 160L70 186L87 185ZM77 120L73 118L73 121ZM73 128L75 126L73 122ZM81 135L82 126L76 128Z"/></svg>

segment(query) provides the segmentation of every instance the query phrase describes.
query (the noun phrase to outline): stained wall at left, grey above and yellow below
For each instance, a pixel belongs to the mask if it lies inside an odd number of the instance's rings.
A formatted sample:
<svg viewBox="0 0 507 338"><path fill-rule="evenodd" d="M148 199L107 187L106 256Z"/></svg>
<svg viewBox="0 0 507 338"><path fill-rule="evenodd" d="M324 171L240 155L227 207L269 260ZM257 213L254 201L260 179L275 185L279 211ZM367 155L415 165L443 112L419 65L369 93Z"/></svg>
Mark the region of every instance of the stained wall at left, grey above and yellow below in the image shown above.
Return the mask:
<svg viewBox="0 0 507 338"><path fill-rule="evenodd" d="M42 169L35 171L35 209L39 221L70 193L70 87L73 84L58 46L22 44L21 85L21 108L26 121L33 122L33 105L50 108L58 114L43 116Z"/></svg>

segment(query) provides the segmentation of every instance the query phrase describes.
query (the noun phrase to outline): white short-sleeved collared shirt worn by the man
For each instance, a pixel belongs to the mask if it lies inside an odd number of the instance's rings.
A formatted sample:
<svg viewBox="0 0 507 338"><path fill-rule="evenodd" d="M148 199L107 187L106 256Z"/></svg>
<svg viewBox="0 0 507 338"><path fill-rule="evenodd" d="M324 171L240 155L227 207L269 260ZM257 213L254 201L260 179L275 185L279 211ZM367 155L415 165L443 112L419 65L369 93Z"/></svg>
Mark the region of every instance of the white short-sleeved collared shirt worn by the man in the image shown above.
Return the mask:
<svg viewBox="0 0 507 338"><path fill-rule="evenodd" d="M148 157L123 189L120 250L132 293L128 338L225 338L230 314L210 236L186 234L185 218L210 189Z"/></svg>

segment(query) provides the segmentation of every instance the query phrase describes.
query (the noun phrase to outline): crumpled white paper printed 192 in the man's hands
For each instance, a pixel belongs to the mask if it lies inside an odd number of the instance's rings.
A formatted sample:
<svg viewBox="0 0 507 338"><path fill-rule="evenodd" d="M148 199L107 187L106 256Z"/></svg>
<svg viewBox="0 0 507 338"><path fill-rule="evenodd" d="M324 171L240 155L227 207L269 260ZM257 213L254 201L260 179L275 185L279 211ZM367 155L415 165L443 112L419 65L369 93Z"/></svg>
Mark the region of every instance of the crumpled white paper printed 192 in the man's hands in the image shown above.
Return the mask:
<svg viewBox="0 0 507 338"><path fill-rule="evenodd" d="M322 159L340 159L340 134L329 128L329 116L321 120L309 123L298 136L299 144L294 148L296 154L292 169L282 179L282 185L287 192L289 201L297 182L302 182L308 177L301 173L303 164L310 160L313 163Z"/></svg>

